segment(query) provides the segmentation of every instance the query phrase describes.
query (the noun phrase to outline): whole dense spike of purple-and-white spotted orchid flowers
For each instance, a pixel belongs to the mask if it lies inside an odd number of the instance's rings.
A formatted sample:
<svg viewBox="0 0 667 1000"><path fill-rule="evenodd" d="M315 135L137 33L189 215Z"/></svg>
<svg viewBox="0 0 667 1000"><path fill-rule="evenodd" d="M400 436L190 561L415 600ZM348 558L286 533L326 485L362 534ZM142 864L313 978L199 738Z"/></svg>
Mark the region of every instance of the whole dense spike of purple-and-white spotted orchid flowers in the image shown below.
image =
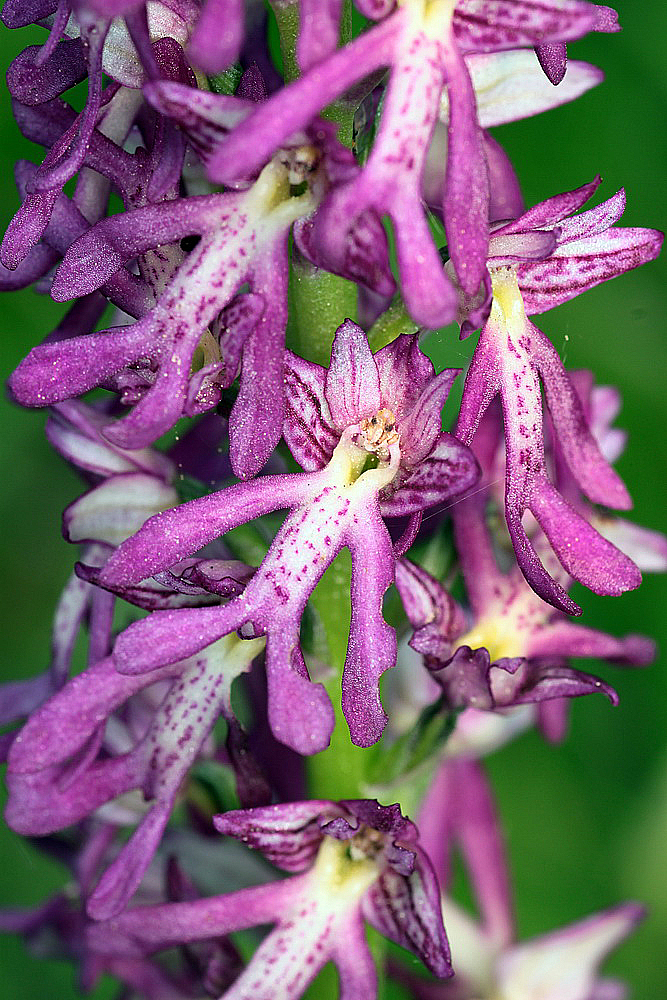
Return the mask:
<svg viewBox="0 0 667 1000"><path fill-rule="evenodd" d="M662 234L617 225L623 191L584 210L599 178L526 208L489 131L600 83L566 44L616 14L268 7L270 30L252 0L3 9L47 35L8 72L45 154L17 164L0 284L71 303L9 388L50 408L86 491L49 668L0 688L23 723L1 738L7 822L73 828L71 891L0 923L144 1000L297 1000L329 962L341 1000L616 997L598 965L641 908L517 943L478 762L534 724L562 739L573 697L617 703L572 659L654 656L568 617L575 582L633 589L667 540L612 513L615 390L529 317ZM465 373L420 336L452 323L481 328Z"/></svg>

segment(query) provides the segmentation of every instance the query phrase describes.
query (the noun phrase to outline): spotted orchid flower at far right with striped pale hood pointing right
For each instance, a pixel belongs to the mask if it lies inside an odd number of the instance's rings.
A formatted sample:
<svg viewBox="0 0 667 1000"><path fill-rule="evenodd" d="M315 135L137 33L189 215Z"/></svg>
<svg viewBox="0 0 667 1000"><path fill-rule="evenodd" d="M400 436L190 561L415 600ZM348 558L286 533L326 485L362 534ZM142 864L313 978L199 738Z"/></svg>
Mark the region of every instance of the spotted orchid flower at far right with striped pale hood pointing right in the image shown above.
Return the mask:
<svg viewBox="0 0 667 1000"><path fill-rule="evenodd" d="M600 454L557 352L528 319L657 256L661 233L612 228L625 205L622 191L568 217L598 183L550 198L494 233L488 262L491 312L466 376L457 424L458 437L470 444L486 408L500 394L505 516L517 560L535 591L570 614L580 609L535 553L522 523L527 510L561 565L591 590L619 594L641 580L637 567L567 503L547 474L540 381L563 457L580 488L607 507L631 505L622 481ZM487 309L479 307L475 321Z"/></svg>

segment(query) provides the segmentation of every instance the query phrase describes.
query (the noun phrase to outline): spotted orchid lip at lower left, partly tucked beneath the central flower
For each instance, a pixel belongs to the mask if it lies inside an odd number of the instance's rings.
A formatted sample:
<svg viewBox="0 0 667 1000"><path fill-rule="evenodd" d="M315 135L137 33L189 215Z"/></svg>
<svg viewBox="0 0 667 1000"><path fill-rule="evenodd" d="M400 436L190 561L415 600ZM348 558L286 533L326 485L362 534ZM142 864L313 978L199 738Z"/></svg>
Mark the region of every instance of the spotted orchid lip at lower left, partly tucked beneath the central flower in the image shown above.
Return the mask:
<svg viewBox="0 0 667 1000"><path fill-rule="evenodd" d="M188 604L201 600L191 596ZM34 712L13 743L6 818L19 833L43 836L62 829L133 789L152 800L90 896L91 916L119 913L137 889L176 795L221 713L234 737L239 735L231 685L263 647L263 639L244 642L230 635L185 662L134 676L119 674L110 657L101 660ZM129 725L123 738L105 735L107 719L153 685L157 704L147 706L148 724L142 712L143 725Z"/></svg>

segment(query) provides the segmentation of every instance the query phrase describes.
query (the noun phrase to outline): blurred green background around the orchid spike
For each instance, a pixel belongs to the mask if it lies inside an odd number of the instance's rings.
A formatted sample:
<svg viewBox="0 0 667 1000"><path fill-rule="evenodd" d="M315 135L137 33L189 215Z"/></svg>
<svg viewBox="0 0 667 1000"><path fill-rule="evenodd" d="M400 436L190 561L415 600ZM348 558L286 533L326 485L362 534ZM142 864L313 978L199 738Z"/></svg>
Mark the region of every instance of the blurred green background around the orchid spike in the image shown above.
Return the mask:
<svg viewBox="0 0 667 1000"><path fill-rule="evenodd" d="M516 164L526 201L576 187L601 173L599 200L625 185L627 225L666 226L667 7L618 4L624 31L570 47L572 56L601 66L607 81L576 104L497 129ZM0 33L2 64L43 33ZM39 159L2 107L2 223L17 207L14 160ZM665 260L594 289L540 317L570 368L591 368L601 384L623 394L618 425L629 432L619 469L635 500L636 520L666 527ZM64 311L31 291L8 294L2 312L2 372L8 374ZM448 330L430 342L439 367L460 366L472 344ZM4 398L0 469L0 566L4 634L3 677L42 671L49 657L50 621L76 553L60 536L60 515L80 493L43 437L44 415ZM586 624L618 635L642 632L665 641L667 579L647 576L621 598L576 594ZM587 664L596 671L597 664ZM621 900L645 902L649 917L608 963L637 1000L665 995L667 937L667 674L660 658L647 670L599 672L621 704L585 698L572 706L565 743L553 748L534 733L489 760L515 878L519 928L534 935ZM64 869L29 844L0 831L0 899L29 904L59 888ZM222 887L221 887L222 888ZM6 997L28 1000L79 996L65 963L39 961L9 937L0 945ZM111 995L105 984L100 996ZM96 994L97 995L97 994Z"/></svg>

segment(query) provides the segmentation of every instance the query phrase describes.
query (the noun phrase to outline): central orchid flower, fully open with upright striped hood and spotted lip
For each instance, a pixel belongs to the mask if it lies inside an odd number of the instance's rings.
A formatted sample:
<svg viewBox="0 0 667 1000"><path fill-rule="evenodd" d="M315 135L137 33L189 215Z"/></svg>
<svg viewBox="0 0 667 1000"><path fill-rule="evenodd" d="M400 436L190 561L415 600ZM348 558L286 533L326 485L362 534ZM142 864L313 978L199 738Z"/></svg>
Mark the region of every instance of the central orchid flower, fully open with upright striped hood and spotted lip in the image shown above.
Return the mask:
<svg viewBox="0 0 667 1000"><path fill-rule="evenodd" d="M386 722L378 679L396 658L394 633L382 617L395 563L383 517L410 518L398 545L404 551L421 511L477 478L470 452L440 430L441 406L456 374L435 376L410 337L373 356L349 320L336 333L328 371L288 355L284 433L306 472L240 483L152 519L112 556L100 581L122 590L253 517L281 508L292 513L242 595L224 608L154 614L136 623L118 640L119 669L150 670L235 629L265 634L273 733L300 753L321 750L333 712L321 685L308 679L299 627L315 584L347 546L352 625L343 711L353 741L374 743Z"/></svg>

